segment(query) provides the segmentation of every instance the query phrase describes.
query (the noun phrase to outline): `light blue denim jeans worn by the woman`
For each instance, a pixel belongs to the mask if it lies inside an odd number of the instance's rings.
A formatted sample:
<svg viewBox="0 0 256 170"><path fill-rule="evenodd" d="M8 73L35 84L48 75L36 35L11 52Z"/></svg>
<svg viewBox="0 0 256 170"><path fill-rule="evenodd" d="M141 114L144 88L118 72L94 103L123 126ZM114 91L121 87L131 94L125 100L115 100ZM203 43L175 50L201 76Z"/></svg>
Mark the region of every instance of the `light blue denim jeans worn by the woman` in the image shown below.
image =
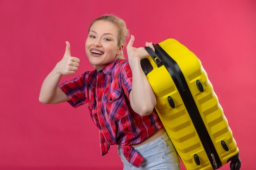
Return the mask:
<svg viewBox="0 0 256 170"><path fill-rule="evenodd" d="M117 147L124 170L180 170L177 152L166 132L161 137L135 148L144 158L139 168L132 166L122 154L120 146Z"/></svg>

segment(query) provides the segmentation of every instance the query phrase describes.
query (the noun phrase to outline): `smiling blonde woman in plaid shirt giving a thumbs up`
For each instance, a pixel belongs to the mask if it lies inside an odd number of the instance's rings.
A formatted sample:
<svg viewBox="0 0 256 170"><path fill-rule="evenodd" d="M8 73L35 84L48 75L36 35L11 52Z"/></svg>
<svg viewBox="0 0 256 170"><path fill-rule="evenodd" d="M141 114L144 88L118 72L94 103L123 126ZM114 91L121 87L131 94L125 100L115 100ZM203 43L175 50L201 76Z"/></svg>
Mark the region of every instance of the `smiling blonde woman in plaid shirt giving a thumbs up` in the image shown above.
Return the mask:
<svg viewBox="0 0 256 170"><path fill-rule="evenodd" d="M143 47L127 45L123 59L126 24L113 15L94 20L85 42L85 52L95 68L60 84L62 75L77 71L79 59L72 57L70 43L65 54L45 78L39 101L45 104L69 102L74 108L85 104L100 130L101 154L118 146L124 170L179 170L180 162L162 122L154 110L155 95L141 69L148 56ZM154 49L152 43L145 46Z"/></svg>

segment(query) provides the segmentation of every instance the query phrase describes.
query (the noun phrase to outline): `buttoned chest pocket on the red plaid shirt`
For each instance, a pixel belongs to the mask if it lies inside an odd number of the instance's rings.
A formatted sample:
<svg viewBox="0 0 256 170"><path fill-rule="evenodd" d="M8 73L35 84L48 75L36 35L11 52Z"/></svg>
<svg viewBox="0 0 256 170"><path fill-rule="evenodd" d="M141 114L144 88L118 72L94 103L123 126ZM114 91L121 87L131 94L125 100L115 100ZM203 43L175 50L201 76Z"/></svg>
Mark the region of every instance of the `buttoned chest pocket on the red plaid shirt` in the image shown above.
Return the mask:
<svg viewBox="0 0 256 170"><path fill-rule="evenodd" d="M129 114L121 88L108 91L103 100L106 102L105 111L110 120L117 121Z"/></svg>

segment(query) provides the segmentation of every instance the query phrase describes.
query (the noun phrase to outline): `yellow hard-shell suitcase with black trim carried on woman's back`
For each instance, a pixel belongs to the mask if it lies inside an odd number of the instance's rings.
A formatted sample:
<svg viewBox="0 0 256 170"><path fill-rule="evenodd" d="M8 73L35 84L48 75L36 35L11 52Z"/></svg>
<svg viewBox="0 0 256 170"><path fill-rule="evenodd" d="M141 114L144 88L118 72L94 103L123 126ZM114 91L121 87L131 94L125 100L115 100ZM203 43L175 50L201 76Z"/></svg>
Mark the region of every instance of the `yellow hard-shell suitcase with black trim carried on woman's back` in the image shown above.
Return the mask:
<svg viewBox="0 0 256 170"><path fill-rule="evenodd" d="M177 40L146 48L141 67L156 110L187 170L240 169L236 141L200 60Z"/></svg>

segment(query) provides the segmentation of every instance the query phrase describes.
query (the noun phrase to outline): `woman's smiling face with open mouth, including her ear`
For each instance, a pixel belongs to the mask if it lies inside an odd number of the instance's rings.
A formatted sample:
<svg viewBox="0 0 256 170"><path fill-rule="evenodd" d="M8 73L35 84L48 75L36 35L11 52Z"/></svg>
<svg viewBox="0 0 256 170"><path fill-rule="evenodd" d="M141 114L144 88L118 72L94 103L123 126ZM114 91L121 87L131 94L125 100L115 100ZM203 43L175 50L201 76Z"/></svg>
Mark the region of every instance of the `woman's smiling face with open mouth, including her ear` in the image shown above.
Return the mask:
<svg viewBox="0 0 256 170"><path fill-rule="evenodd" d="M100 71L112 62L123 49L118 46L118 28L108 21L99 20L91 26L85 42L85 52L89 62Z"/></svg>

